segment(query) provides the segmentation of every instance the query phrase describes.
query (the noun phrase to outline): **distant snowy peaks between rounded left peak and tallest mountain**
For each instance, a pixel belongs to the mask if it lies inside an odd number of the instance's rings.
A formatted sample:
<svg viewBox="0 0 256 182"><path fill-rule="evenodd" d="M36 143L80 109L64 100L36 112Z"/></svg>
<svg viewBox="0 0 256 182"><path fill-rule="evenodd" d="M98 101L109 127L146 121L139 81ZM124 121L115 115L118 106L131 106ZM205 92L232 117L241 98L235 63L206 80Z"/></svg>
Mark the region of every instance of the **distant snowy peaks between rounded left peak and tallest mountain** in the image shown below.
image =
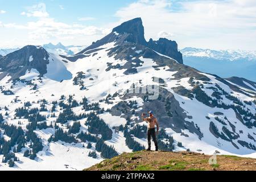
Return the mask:
<svg viewBox="0 0 256 182"><path fill-rule="evenodd" d="M43 48L48 52L55 53L57 55L71 56L75 53L82 51L86 46L63 46L63 44L58 43L53 45L52 43L44 44Z"/></svg>

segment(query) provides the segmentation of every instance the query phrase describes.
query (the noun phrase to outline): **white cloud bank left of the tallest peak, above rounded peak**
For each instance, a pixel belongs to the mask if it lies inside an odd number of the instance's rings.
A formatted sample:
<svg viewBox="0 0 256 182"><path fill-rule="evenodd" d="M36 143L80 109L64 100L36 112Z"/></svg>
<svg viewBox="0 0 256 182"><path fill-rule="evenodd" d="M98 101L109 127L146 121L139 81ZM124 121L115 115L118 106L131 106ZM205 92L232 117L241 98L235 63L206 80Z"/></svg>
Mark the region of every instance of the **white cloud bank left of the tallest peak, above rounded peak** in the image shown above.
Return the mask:
<svg viewBox="0 0 256 182"><path fill-rule="evenodd" d="M27 12L24 11L21 15L33 16L38 18L38 20L27 22L26 24L6 23L2 24L2 26L14 30L26 31L27 39L32 42L39 40L48 40L50 42L52 39L59 39L60 42L61 40L81 39L81 36L84 36L84 38L96 35L102 36L108 34L110 31L108 28L57 22L49 16L44 3L28 7ZM93 18L87 17L87 19ZM81 20L85 20L85 18Z"/></svg>

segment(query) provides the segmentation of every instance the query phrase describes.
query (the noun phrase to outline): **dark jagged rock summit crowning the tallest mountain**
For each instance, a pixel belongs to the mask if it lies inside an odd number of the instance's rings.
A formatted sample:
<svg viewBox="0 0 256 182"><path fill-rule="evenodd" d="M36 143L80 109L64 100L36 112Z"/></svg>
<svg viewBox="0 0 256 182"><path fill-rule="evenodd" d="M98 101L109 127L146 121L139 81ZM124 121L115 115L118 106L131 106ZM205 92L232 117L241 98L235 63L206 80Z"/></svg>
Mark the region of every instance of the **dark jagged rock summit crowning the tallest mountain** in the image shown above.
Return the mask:
<svg viewBox="0 0 256 182"><path fill-rule="evenodd" d="M182 54L178 51L177 43L175 41L165 38L160 38L157 41L150 39L149 42L145 40L144 27L141 18L131 19L113 28L113 31L109 35L105 36L101 40L98 40L97 42L93 42L91 46L77 53L75 60L80 59L82 54L86 55L86 53L92 53L92 51L97 51L98 47L110 42L115 42L121 47L125 45L125 47L123 47L124 51L129 50L127 49L127 43L130 43L130 46L132 46L131 48L134 48L135 45L137 45L137 47L140 47L141 51L137 50L139 52L144 52L143 49L150 48L153 51L169 56L172 59L175 59L178 63L183 64ZM123 51L119 49L119 52ZM117 52L115 52L115 54L117 54ZM132 55L132 53L129 52L127 53L127 55L129 57L129 55ZM84 55L82 55L82 57L84 57ZM123 59L126 56L119 56L119 58L121 57ZM74 57L72 59L74 59Z"/></svg>

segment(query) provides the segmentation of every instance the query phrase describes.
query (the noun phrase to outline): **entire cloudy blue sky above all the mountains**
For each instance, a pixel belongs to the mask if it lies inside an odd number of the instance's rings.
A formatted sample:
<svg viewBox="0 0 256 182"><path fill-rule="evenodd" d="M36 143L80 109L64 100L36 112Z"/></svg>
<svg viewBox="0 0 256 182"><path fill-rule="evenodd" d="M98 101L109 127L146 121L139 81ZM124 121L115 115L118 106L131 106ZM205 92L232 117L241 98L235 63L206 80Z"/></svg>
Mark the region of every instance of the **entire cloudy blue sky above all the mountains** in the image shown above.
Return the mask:
<svg viewBox="0 0 256 182"><path fill-rule="evenodd" d="M136 17L143 20L146 39L176 40L179 48L256 47L254 0L0 0L0 48L85 46Z"/></svg>

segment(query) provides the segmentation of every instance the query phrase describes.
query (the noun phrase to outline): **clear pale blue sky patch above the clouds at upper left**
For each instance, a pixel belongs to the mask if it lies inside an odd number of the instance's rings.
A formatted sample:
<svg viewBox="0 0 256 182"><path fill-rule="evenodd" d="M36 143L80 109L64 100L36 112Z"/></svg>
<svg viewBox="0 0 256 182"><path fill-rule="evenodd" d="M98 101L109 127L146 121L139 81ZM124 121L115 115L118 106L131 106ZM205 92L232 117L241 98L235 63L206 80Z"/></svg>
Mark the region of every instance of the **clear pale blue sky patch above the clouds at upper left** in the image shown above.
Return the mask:
<svg viewBox="0 0 256 182"><path fill-rule="evenodd" d="M33 5L44 3L47 7L47 13L54 17L56 20L73 23L77 22L78 18L82 17L93 17L97 21L88 21L85 24L100 25L107 21L117 20L114 16L115 11L123 6L129 5L134 2L131 0L74 0L74 1L63 1L63 0L47 0L47 1L36 1L36 0L0 0L1 9L5 10L5 15L1 16L1 21L8 23L13 20L15 22L26 23L28 19L20 16L20 13L26 11ZM13 6L15 4L15 6ZM33 20L32 18L30 20ZM34 18L35 20L35 18Z"/></svg>

